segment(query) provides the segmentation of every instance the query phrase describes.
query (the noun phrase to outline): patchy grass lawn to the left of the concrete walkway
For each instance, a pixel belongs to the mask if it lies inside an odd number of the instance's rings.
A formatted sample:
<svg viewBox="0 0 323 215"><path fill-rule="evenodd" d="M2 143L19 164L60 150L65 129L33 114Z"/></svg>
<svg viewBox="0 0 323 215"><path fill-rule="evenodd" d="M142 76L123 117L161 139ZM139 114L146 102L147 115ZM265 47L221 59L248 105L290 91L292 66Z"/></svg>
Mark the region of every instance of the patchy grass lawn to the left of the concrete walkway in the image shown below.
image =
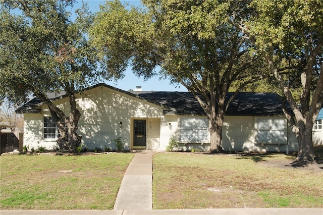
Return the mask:
<svg viewBox="0 0 323 215"><path fill-rule="evenodd" d="M0 209L113 209L133 156L1 156Z"/></svg>

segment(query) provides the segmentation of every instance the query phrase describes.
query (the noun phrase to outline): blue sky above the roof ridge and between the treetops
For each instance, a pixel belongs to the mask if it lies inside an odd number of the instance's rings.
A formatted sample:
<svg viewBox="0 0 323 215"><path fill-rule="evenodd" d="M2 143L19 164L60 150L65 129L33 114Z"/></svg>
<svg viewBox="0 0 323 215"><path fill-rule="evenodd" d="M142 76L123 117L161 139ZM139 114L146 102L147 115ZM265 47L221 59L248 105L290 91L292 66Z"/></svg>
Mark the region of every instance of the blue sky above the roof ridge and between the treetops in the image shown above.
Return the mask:
<svg viewBox="0 0 323 215"><path fill-rule="evenodd" d="M99 5L104 5L105 1L98 0L84 0L84 3L87 3L89 10L91 12L96 12L99 10ZM121 1L122 3L128 3L129 6L140 6L140 1L137 0L128 0ZM81 1L74 5L74 9L81 6ZM117 87L122 90L134 89L136 86L141 86L143 91L187 91L187 89L181 85L170 84L169 79L159 80L159 77L153 77L147 81L143 81L143 78L136 77L129 67L125 71L125 77L121 80L116 81L106 81L108 85Z"/></svg>

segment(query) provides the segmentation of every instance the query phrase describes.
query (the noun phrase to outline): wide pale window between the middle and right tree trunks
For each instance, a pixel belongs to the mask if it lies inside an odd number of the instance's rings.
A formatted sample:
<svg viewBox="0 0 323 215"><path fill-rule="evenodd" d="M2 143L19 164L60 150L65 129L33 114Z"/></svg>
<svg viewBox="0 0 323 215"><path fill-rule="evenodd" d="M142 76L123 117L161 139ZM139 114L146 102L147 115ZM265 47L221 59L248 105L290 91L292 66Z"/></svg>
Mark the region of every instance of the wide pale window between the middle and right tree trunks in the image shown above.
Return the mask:
<svg viewBox="0 0 323 215"><path fill-rule="evenodd" d="M286 143L286 120L258 118L256 122L257 143Z"/></svg>

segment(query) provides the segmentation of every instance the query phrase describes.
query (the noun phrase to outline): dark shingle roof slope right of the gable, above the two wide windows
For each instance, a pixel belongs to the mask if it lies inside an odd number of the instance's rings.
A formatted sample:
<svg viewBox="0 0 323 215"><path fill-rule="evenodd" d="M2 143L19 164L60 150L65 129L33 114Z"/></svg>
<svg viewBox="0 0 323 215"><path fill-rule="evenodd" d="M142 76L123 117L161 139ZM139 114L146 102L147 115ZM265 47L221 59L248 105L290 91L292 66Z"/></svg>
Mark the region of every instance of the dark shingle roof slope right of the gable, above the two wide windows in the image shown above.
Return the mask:
<svg viewBox="0 0 323 215"><path fill-rule="evenodd" d="M147 100L165 104L179 115L205 115L198 101L190 92L140 92L132 91ZM226 100L233 95L228 93ZM238 93L227 110L231 116L278 116L284 115L277 93Z"/></svg>

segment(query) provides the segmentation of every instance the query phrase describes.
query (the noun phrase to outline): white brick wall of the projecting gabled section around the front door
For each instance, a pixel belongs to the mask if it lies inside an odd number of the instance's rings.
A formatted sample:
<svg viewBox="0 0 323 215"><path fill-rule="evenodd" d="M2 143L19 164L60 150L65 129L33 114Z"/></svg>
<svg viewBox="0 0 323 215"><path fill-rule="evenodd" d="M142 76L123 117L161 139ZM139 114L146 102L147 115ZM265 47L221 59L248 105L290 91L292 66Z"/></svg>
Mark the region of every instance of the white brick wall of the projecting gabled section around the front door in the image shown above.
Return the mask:
<svg viewBox="0 0 323 215"><path fill-rule="evenodd" d="M68 99L55 101L57 105L69 114ZM146 118L152 125L147 137L147 146L151 149L159 148L160 117L163 110L141 99L117 92L110 88L98 87L77 95L78 109L81 118L77 133L82 135L84 147L104 149L104 146L115 149L114 139L121 137L125 149L131 147L131 120L133 118ZM47 106L40 106L40 114L25 114L24 144L44 146L46 149L57 148L55 139L43 139L43 117L50 116ZM122 128L119 123L122 122Z"/></svg>

